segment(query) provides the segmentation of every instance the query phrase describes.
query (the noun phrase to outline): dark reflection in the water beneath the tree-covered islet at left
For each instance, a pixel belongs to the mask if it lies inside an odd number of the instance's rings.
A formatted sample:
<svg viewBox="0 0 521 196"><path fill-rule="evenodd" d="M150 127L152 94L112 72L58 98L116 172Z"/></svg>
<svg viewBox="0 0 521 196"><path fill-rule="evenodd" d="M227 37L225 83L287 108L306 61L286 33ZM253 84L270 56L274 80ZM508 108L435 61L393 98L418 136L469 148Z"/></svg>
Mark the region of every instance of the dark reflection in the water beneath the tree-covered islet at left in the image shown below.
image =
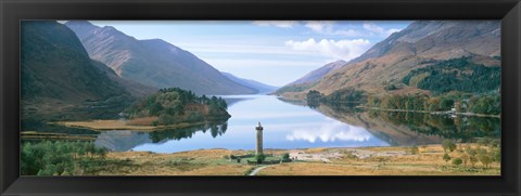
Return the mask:
<svg viewBox="0 0 521 196"><path fill-rule="evenodd" d="M105 131L98 135L94 143L97 146L106 147L110 151L126 152L142 144L190 139L198 131L202 131L203 133L209 131L209 134L212 134L213 138L216 138L225 134L227 129L227 122L211 122L208 125L190 128L157 130L153 132Z"/></svg>

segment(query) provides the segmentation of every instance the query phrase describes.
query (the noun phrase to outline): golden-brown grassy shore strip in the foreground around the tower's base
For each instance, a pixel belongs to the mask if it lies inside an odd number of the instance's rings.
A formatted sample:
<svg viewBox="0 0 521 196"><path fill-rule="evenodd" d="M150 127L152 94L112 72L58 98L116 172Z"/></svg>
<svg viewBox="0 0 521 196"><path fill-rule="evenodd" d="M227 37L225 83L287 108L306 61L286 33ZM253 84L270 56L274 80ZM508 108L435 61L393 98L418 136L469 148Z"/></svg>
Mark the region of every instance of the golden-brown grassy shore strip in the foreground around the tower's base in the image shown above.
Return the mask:
<svg viewBox="0 0 521 196"><path fill-rule="evenodd" d="M461 144L461 146L476 144ZM411 147L334 147L306 149L265 149L274 158L290 154L291 162L249 165L230 156L252 151L198 149L173 154L150 152L109 153L107 158L126 161L125 166L107 166L100 175L500 175L500 164L487 168L454 166L443 160L441 145ZM457 151L448 153L459 157ZM269 166L269 167L265 167ZM263 167L262 169L259 169Z"/></svg>

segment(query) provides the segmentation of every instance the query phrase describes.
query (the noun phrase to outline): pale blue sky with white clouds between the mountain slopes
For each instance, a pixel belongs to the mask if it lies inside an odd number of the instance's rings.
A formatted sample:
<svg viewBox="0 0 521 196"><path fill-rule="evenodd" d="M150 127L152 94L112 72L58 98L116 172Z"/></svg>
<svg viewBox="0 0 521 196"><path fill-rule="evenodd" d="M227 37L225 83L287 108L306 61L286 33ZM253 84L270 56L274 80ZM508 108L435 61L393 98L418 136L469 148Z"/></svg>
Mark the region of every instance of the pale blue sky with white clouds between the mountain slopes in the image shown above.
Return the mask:
<svg viewBox="0 0 521 196"><path fill-rule="evenodd" d="M163 39L220 71L282 87L350 61L408 21L90 21L136 39Z"/></svg>

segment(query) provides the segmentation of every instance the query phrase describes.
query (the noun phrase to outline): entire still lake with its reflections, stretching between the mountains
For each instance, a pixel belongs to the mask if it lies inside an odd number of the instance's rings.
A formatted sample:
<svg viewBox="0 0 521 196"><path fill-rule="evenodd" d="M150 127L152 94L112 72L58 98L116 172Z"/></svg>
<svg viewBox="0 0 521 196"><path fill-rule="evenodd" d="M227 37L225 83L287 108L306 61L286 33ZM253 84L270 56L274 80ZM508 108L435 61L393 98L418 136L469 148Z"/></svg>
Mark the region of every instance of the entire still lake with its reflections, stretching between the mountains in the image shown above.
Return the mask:
<svg viewBox="0 0 521 196"><path fill-rule="evenodd" d="M231 115L226 122L155 132L103 131L97 133L94 143L115 152L254 149L258 122L264 127L264 148L411 146L440 144L444 139L499 139L501 132L499 118L367 112L343 105L310 107L274 95L223 97Z"/></svg>

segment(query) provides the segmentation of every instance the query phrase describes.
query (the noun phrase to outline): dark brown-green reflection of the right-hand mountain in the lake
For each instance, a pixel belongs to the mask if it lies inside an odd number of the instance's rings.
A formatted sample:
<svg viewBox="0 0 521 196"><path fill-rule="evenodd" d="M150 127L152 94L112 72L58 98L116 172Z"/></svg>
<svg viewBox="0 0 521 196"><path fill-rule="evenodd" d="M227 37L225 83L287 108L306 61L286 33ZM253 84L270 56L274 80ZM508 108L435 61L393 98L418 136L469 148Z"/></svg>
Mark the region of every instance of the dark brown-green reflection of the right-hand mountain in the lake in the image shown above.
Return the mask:
<svg viewBox="0 0 521 196"><path fill-rule="evenodd" d="M497 118L458 117L421 113L355 112L354 108L320 105L316 109L340 121L366 128L391 145L440 143L443 139L472 142L475 138L499 138Z"/></svg>

